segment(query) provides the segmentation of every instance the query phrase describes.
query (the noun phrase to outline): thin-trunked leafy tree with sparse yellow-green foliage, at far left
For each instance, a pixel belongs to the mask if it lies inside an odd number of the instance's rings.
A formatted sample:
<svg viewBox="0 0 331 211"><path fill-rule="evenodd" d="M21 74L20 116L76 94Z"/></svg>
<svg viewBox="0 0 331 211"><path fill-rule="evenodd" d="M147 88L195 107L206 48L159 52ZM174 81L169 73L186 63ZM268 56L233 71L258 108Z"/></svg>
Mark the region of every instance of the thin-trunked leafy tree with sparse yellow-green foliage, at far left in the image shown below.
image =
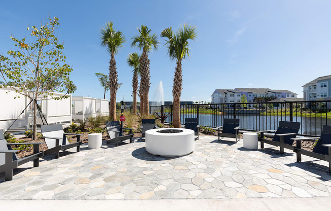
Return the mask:
<svg viewBox="0 0 331 211"><path fill-rule="evenodd" d="M53 92L72 93L77 88L69 79L73 69L65 63L63 44L59 44L55 36L58 18L48 20L41 27L27 27L31 32L29 40L11 36L16 50L9 50L9 57L0 55L0 76L4 80L0 88L10 87L33 100L33 139L37 139L38 97L48 95L54 99L67 98L68 95L55 97Z"/></svg>

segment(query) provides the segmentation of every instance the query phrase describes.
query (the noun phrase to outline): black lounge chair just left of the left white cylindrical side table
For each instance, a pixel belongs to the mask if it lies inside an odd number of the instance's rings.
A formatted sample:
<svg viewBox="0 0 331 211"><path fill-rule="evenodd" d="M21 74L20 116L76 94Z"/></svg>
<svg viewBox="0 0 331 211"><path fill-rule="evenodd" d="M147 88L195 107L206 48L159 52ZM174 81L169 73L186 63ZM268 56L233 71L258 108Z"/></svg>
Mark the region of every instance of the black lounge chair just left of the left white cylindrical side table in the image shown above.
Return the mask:
<svg viewBox="0 0 331 211"><path fill-rule="evenodd" d="M60 150L77 147L77 152L80 151L80 146L82 145L80 136L83 134L64 133L62 124L41 125L40 127L48 148L48 150L44 151L44 155L55 153L55 158L59 158ZM65 135L76 135L77 142L69 144Z"/></svg>

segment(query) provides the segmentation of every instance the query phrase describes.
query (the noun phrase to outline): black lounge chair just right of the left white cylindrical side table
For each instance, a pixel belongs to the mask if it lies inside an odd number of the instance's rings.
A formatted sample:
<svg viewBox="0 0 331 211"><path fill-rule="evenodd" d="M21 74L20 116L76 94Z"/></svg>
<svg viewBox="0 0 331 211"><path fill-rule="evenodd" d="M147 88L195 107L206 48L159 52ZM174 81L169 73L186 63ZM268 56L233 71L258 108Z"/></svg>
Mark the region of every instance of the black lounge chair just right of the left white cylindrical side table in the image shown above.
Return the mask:
<svg viewBox="0 0 331 211"><path fill-rule="evenodd" d="M134 134L132 134L133 128L121 128L119 121L106 122L106 128L110 137L107 144L115 142L115 146L118 147L118 142L126 139L130 139L130 143L132 143L132 137L134 136ZM123 129L128 129L130 134L124 135Z"/></svg>

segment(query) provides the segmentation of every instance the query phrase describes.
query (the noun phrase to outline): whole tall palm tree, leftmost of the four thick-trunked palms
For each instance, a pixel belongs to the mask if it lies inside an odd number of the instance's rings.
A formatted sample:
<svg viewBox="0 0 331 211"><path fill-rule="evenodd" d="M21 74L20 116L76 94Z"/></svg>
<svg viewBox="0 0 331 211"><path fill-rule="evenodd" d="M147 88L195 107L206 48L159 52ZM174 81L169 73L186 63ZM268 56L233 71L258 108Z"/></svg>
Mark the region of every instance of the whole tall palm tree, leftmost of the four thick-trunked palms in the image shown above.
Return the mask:
<svg viewBox="0 0 331 211"><path fill-rule="evenodd" d="M109 117L116 120L116 92L118 89L118 76L116 71L115 54L125 42L125 36L121 31L116 31L112 22L108 22L100 30L101 45L106 47L110 53L109 61L109 90L110 90L110 107Z"/></svg>

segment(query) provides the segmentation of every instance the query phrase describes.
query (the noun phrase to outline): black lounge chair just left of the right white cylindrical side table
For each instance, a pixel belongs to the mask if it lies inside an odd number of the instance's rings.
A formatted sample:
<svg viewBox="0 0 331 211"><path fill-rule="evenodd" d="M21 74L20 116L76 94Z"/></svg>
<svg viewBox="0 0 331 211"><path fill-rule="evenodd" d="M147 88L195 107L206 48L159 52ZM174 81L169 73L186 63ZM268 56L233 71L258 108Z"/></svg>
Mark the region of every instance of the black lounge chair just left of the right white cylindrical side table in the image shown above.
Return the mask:
<svg viewBox="0 0 331 211"><path fill-rule="evenodd" d="M222 132L220 132L220 128L223 128ZM218 140L219 137L229 137L236 138L236 143L240 140L239 136L239 119L224 119L223 126L217 127L218 129Z"/></svg>

